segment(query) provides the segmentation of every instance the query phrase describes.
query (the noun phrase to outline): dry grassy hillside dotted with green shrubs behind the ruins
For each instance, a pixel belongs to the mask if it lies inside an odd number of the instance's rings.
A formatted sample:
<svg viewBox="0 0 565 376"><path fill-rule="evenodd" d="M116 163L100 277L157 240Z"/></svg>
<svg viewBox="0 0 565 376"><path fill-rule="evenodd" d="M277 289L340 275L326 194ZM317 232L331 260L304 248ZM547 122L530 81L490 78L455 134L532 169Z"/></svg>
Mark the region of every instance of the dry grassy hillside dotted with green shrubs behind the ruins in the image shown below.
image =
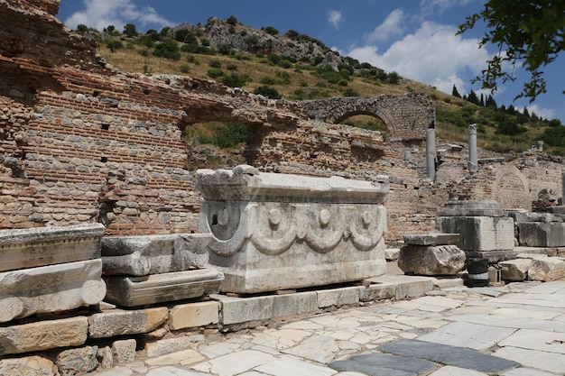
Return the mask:
<svg viewBox="0 0 565 376"><path fill-rule="evenodd" d="M208 78L289 100L425 91L436 104L441 139L466 142L468 124L477 123L479 146L487 150L520 152L543 140L545 151L565 154L565 128L559 126L559 120L523 114L513 105L497 105L492 98L478 98L474 92L463 98L446 95L395 72L342 57L323 42L292 30L282 34L267 26L258 31L233 16L144 34L137 33L132 24L123 33L112 26L103 32L84 25L78 29L97 40L98 51L108 63L125 71ZM370 116L355 116L346 123L373 129L382 126Z"/></svg>

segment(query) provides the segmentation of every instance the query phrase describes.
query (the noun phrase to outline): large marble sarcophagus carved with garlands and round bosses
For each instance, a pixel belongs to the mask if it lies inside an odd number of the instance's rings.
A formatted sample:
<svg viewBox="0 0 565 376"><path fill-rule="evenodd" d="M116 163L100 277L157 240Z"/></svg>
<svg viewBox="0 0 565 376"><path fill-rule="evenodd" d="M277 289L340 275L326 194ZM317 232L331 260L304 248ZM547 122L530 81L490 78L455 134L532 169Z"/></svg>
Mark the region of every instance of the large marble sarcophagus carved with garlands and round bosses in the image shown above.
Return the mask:
<svg viewBox="0 0 565 376"><path fill-rule="evenodd" d="M199 170L200 232L222 290L255 293L384 274L388 178L376 181Z"/></svg>

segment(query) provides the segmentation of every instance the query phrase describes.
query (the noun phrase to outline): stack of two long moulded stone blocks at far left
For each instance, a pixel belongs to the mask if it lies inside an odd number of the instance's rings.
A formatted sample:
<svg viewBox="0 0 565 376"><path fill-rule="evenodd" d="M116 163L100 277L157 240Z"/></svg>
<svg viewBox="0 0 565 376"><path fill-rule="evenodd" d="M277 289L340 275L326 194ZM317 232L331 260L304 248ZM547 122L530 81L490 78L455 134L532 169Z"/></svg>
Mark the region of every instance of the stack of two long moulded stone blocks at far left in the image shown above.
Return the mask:
<svg viewBox="0 0 565 376"><path fill-rule="evenodd" d="M102 301L103 234L99 224L0 231L0 323Z"/></svg>

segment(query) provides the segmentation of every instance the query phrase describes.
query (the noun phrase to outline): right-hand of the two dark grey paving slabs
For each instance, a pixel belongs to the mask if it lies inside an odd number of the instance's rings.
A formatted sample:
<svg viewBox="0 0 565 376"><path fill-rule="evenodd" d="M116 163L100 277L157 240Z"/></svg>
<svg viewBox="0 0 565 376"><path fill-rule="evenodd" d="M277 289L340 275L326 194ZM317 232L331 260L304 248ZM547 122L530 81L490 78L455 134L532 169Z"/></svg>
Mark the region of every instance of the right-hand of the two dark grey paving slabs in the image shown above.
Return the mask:
<svg viewBox="0 0 565 376"><path fill-rule="evenodd" d="M520 363L509 361L466 347L433 344L415 339L401 339L390 344L383 344L378 350L402 356L413 356L431 362L440 362L483 372L506 371L520 366Z"/></svg>

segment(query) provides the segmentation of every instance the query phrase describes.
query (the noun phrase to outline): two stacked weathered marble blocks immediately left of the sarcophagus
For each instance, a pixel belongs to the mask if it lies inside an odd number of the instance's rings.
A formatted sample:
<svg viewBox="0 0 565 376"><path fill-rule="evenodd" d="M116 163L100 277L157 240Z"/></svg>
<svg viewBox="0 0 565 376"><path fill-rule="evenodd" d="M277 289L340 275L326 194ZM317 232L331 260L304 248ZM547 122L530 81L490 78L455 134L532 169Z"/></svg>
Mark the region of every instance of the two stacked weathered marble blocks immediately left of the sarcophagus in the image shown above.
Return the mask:
<svg viewBox="0 0 565 376"><path fill-rule="evenodd" d="M218 293L224 277L208 267L210 239L211 234L103 239L107 301L136 307Z"/></svg>

